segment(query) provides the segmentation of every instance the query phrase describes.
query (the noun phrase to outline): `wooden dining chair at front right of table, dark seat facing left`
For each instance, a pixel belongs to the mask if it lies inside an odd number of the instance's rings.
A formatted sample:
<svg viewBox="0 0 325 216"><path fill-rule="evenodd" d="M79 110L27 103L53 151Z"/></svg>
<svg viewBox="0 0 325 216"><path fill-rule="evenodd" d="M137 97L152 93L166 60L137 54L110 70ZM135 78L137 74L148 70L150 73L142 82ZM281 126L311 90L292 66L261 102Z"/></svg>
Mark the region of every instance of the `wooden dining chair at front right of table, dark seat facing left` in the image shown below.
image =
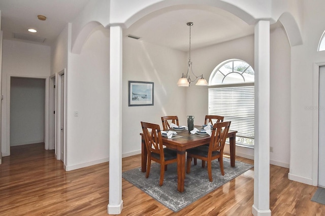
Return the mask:
<svg viewBox="0 0 325 216"><path fill-rule="evenodd" d="M212 182L212 161L219 160L221 174L223 170L223 148L231 122L220 122L213 125L209 146L199 146L187 150L186 173L190 172L192 158L207 161L209 181Z"/></svg>

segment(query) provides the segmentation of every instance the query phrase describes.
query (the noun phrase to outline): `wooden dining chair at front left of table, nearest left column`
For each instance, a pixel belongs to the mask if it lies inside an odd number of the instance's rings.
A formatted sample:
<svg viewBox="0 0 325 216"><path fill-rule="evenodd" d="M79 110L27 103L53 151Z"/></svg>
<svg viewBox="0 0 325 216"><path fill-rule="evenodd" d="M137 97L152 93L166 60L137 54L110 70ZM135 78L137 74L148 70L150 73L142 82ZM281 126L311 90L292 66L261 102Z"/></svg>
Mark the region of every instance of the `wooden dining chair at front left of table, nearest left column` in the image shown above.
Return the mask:
<svg viewBox="0 0 325 216"><path fill-rule="evenodd" d="M163 139L161 138L159 125L141 122L141 127L148 152L146 178L149 177L151 160L153 160L160 164L159 186L162 186L167 165L177 162L177 152L171 149L163 148Z"/></svg>

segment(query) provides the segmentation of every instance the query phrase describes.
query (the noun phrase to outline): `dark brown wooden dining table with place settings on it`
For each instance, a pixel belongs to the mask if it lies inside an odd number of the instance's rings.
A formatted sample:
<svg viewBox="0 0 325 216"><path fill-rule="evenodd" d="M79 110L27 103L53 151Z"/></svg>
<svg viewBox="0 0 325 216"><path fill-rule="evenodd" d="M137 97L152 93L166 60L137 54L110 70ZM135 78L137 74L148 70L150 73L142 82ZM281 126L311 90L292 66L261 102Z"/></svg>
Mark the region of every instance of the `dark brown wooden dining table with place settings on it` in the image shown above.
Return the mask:
<svg viewBox="0 0 325 216"><path fill-rule="evenodd" d="M200 129L201 126L195 126ZM230 163L232 167L235 167L235 154L236 154L236 130L229 130L228 137L230 143ZM141 135L141 171L147 170L147 148L143 133ZM206 145L210 142L211 137L209 135L191 134L188 130L177 131L177 135L172 138L163 136L163 145L169 149L177 151L177 190L179 192L184 191L185 180L185 152L187 149L191 149L198 146Z"/></svg>

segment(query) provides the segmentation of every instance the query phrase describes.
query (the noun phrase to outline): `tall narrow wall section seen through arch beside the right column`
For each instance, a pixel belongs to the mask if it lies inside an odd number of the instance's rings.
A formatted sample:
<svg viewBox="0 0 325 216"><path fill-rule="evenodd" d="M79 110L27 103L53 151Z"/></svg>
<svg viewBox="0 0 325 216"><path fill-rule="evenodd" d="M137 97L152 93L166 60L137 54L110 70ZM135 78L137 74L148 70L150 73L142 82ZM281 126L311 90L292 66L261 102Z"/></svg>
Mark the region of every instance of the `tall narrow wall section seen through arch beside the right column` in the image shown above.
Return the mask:
<svg viewBox="0 0 325 216"><path fill-rule="evenodd" d="M283 28L270 34L270 163L289 168L290 45Z"/></svg>

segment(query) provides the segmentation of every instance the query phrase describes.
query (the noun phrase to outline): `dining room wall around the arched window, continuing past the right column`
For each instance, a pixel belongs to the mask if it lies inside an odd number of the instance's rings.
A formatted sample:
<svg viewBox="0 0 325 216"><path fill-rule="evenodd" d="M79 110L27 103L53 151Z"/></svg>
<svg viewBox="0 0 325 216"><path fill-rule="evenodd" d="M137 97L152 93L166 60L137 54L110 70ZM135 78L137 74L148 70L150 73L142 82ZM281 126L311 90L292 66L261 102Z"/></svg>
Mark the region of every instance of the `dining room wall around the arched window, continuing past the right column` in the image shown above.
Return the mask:
<svg viewBox="0 0 325 216"><path fill-rule="evenodd" d="M270 146L273 147L270 162L289 167L290 45L283 28L271 30L270 43ZM253 35L191 51L194 73L203 74L207 80L215 66L231 58L242 59L254 68ZM194 124L203 124L204 117L208 114L207 87L191 84L187 89L186 113L196 117ZM229 153L228 146L225 147L225 152ZM236 148L236 155L254 158L253 149L243 147Z"/></svg>

